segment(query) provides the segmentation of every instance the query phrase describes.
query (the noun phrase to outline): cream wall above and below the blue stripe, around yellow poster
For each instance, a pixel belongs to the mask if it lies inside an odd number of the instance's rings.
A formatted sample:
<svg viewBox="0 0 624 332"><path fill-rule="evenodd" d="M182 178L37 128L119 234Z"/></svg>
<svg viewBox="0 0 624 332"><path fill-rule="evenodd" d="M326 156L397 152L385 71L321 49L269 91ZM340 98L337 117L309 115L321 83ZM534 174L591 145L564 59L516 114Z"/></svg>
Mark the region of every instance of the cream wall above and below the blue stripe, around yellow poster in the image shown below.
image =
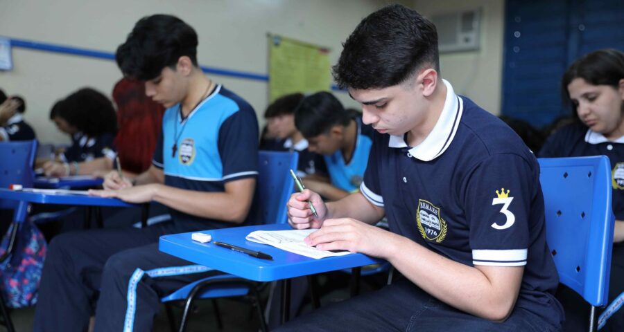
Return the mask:
<svg viewBox="0 0 624 332"><path fill-rule="evenodd" d="M167 13L180 17L199 35L203 66L266 75L266 33L331 48L341 43L383 0L4 0L0 35L114 53L141 17ZM42 142L67 142L48 120L51 105L81 86L110 95L121 78L114 61L13 48L14 69L0 72L0 87L26 98L26 120ZM248 100L259 115L268 102L267 82L213 75ZM345 93L336 93L356 107ZM261 120L261 116L259 119Z"/></svg>

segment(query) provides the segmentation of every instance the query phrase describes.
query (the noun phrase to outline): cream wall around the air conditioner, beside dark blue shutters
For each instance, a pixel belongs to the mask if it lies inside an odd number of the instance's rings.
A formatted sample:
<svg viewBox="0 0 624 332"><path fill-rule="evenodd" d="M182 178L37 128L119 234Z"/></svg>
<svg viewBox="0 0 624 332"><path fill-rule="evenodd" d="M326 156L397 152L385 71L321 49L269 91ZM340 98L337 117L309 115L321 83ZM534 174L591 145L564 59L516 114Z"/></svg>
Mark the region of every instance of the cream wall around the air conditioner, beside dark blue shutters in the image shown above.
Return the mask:
<svg viewBox="0 0 624 332"><path fill-rule="evenodd" d="M440 55L440 71L456 93L496 115L501 113L504 6L504 0L414 0L412 7L429 18L481 8L480 49Z"/></svg>

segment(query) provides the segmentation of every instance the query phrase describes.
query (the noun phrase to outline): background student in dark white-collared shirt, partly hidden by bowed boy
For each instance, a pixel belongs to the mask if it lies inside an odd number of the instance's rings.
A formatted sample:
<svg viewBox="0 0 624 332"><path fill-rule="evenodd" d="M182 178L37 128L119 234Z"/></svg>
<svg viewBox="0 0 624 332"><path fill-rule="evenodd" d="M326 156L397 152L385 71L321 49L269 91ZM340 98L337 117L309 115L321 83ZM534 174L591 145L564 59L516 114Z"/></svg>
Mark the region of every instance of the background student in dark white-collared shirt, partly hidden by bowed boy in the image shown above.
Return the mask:
<svg viewBox="0 0 624 332"><path fill-rule="evenodd" d="M318 181L327 182L327 169L323 157L308 151L308 141L295 127L295 109L303 98L303 93L284 95L272 102L264 112L268 128L271 128L275 137L282 142L281 146L272 150L297 151L299 153L297 176L302 178L314 176Z"/></svg>

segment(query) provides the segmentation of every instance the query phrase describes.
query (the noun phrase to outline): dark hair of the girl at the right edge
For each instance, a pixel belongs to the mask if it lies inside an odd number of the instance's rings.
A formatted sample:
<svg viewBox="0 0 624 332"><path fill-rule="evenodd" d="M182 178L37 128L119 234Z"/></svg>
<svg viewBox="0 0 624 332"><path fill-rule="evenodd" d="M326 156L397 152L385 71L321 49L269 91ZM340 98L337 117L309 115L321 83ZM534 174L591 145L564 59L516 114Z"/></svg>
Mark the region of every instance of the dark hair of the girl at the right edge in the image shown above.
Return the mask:
<svg viewBox="0 0 624 332"><path fill-rule="evenodd" d="M618 89L620 80L624 79L624 53L612 48L596 50L577 59L564 73L561 80L564 104L570 104L574 116L577 116L568 91L575 78L582 78L592 85L609 85Z"/></svg>

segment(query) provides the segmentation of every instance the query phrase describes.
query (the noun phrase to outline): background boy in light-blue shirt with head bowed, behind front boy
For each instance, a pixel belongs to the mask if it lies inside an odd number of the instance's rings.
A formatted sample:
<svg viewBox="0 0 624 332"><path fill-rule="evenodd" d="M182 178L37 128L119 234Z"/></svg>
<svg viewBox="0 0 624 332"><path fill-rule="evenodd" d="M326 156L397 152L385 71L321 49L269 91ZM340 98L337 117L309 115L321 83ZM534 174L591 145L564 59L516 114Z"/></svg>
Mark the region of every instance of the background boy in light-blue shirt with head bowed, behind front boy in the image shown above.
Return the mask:
<svg viewBox="0 0 624 332"><path fill-rule="evenodd" d="M295 110L295 126L311 152L322 154L330 183L304 179L306 188L335 201L358 190L372 145L372 129L352 117L329 92L309 95Z"/></svg>

